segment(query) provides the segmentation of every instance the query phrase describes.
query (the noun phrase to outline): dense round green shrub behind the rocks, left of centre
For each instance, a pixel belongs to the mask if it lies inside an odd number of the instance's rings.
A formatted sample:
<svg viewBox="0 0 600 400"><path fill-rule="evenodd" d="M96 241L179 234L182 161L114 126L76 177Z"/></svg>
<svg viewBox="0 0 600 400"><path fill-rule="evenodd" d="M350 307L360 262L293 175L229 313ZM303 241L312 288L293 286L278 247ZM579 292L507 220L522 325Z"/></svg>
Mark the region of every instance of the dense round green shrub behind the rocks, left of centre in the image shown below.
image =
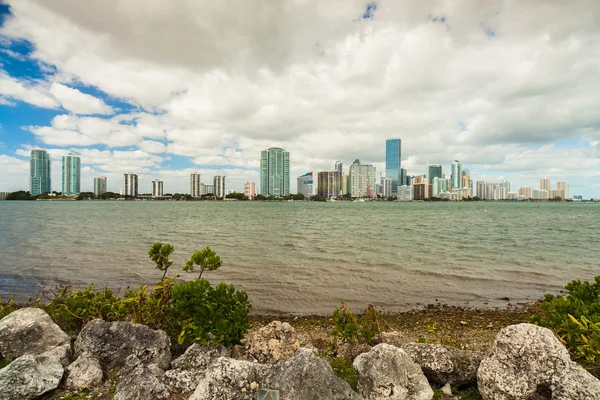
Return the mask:
<svg viewBox="0 0 600 400"><path fill-rule="evenodd" d="M231 347L250 327L248 295L225 283L213 288L206 279L198 279L174 285L171 309L183 325L180 344L197 341Z"/></svg>

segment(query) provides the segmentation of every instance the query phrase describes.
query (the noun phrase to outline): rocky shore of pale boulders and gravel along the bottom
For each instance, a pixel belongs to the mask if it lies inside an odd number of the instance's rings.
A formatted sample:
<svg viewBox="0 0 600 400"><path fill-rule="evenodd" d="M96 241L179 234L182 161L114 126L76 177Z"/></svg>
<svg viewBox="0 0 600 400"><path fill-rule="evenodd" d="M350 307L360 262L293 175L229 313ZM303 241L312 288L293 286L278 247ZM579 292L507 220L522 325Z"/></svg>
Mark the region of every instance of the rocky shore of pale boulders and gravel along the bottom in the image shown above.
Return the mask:
<svg viewBox="0 0 600 400"><path fill-rule="evenodd" d="M22 308L0 320L0 400L600 399L600 381L526 323L534 308L388 314L372 345L332 346L327 317L254 317L240 346L175 352L144 325L93 320L69 337ZM328 356L351 363L354 389Z"/></svg>

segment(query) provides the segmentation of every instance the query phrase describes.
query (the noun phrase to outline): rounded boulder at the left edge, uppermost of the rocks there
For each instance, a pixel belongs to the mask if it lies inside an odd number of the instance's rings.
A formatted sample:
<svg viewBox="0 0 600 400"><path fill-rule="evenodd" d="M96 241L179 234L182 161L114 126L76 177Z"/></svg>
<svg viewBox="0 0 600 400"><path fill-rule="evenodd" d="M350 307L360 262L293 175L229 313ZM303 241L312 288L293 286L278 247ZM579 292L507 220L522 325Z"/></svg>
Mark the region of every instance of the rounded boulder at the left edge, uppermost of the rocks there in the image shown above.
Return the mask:
<svg viewBox="0 0 600 400"><path fill-rule="evenodd" d="M0 354L9 360L22 355L40 355L71 340L46 312L39 308L21 308L0 320Z"/></svg>

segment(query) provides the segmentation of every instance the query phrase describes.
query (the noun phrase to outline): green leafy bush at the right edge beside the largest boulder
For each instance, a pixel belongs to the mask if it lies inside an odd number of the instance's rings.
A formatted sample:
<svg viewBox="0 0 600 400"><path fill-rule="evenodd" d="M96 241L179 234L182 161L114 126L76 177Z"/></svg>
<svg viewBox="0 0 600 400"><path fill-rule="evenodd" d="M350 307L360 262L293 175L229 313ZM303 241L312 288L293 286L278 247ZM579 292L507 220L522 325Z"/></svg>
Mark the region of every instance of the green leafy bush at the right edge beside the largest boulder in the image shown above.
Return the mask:
<svg viewBox="0 0 600 400"><path fill-rule="evenodd" d="M593 283L572 281L566 296L547 294L544 311L532 322L552 329L565 344L571 357L588 369L600 370L600 276Z"/></svg>

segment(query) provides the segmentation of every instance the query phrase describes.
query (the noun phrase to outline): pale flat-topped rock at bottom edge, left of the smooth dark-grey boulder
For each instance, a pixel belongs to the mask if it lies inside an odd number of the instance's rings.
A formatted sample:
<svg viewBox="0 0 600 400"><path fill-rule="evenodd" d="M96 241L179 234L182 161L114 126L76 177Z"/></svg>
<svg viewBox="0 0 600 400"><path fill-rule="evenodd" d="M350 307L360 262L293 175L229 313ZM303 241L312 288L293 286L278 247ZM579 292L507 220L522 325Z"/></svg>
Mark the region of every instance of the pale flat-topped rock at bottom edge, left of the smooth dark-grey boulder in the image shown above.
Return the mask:
<svg viewBox="0 0 600 400"><path fill-rule="evenodd" d="M256 382L263 381L269 368L264 364L220 357L210 365L189 400L254 400L260 385Z"/></svg>

